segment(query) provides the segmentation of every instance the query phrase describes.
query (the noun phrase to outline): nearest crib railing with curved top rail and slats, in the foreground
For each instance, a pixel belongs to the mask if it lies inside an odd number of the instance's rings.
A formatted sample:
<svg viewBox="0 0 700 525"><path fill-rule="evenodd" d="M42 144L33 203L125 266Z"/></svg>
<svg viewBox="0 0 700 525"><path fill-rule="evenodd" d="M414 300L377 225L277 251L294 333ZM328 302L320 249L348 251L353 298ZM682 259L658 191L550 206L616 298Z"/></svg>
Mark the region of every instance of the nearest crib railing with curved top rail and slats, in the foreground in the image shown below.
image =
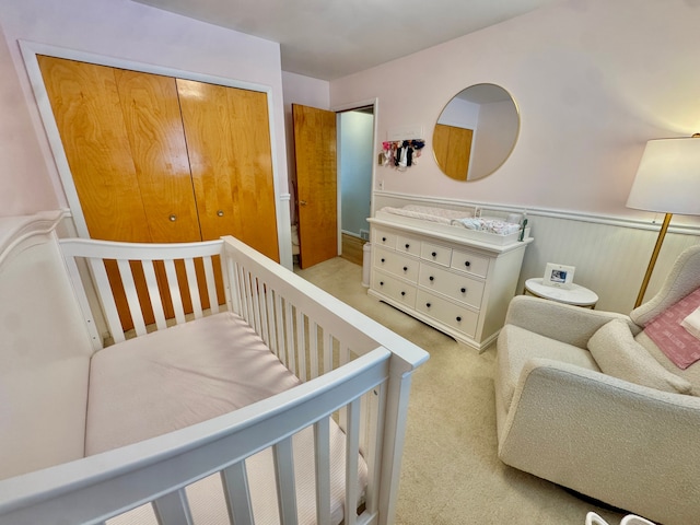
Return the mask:
<svg viewBox="0 0 700 525"><path fill-rule="evenodd" d="M386 383L390 352L376 349L323 377L300 385L235 412L133 445L57 467L0 481L0 523L101 524L122 512L152 502L163 525L191 523L185 488L219 474L226 491L231 523L253 524L244 459L272 446L278 478L281 523L296 523L291 440L313 425L317 458L328 457L328 416L339 405L358 411L358 398ZM314 415L310 419L308 415ZM355 420L355 417L351 418ZM351 431L357 441L357 432ZM348 457L357 446L348 450ZM317 523L330 523L325 503L327 469L317 468ZM357 468L348 469L348 483L357 486ZM353 474L354 472L354 474ZM376 492L376 489L373 490ZM346 501L357 501L348 489ZM374 497L375 498L375 497ZM372 501L370 501L372 500ZM376 500L368 498L359 516L345 513L345 523L390 523ZM60 517L59 517L60 516Z"/></svg>

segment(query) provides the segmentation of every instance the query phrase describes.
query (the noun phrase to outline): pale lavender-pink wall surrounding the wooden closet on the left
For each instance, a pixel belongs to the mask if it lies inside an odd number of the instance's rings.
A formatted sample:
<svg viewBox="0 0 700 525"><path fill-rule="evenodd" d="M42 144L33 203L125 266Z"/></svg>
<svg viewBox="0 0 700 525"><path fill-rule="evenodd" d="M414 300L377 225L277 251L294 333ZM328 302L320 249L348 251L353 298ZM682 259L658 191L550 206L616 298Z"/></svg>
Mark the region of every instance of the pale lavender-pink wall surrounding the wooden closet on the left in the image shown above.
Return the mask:
<svg viewBox="0 0 700 525"><path fill-rule="evenodd" d="M18 42L30 40L138 65L214 75L269 89L282 262L291 267L288 175L279 44L129 0L3 2L0 214L67 206ZM8 56L9 52L9 56ZM37 154L39 153L40 154Z"/></svg>

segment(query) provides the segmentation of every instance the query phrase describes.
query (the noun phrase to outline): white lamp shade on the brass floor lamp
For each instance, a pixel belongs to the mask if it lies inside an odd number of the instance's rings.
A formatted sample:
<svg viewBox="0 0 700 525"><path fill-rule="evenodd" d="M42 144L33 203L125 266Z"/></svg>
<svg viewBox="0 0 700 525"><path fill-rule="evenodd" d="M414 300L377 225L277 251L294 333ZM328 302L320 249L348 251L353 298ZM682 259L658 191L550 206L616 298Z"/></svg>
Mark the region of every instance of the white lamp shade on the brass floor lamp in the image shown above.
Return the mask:
<svg viewBox="0 0 700 525"><path fill-rule="evenodd" d="M646 142L627 207L700 215L700 138Z"/></svg>

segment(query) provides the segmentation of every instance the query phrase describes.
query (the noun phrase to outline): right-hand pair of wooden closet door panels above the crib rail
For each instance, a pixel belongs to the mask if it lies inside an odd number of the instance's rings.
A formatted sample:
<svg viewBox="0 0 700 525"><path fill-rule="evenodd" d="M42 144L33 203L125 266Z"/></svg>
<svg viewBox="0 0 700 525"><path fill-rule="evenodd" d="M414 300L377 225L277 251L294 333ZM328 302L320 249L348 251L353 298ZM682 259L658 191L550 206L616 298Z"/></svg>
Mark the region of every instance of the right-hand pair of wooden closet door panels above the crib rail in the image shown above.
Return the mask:
<svg viewBox="0 0 700 525"><path fill-rule="evenodd" d="M177 79L203 240L233 235L279 261L267 95Z"/></svg>

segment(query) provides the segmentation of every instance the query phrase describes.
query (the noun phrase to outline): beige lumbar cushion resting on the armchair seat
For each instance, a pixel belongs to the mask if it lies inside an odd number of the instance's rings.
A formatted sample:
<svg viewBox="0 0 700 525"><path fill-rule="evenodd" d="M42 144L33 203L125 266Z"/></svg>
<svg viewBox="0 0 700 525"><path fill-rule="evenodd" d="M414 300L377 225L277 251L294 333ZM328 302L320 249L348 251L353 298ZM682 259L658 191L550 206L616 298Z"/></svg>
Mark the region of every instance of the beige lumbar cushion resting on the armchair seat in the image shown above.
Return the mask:
<svg viewBox="0 0 700 525"><path fill-rule="evenodd" d="M615 319L588 340L588 350L605 374L665 392L690 394L691 384L664 369L638 343L627 323Z"/></svg>

